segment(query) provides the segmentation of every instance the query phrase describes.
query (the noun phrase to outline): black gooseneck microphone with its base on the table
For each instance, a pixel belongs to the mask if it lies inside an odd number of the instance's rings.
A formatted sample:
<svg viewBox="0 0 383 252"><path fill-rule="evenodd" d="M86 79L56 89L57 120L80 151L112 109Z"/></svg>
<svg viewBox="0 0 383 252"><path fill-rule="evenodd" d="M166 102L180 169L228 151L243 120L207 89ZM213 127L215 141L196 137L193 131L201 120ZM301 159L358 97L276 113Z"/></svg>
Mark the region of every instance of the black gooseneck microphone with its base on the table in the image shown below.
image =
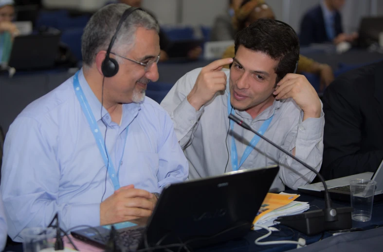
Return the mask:
<svg viewBox="0 0 383 252"><path fill-rule="evenodd" d="M324 210L320 209L320 210L305 212L303 214L298 214L298 215L279 217L276 219L276 221L279 221L282 225L292 227L306 235L319 234L327 230L344 230L344 229L351 228L352 208L351 207L342 207L342 208L332 207L331 198L328 193L326 182L323 179L322 175L319 174L318 171L310 167L308 164L306 164L299 158L293 156L288 151L285 151L283 148L281 148L279 145L275 144L268 138L264 137L263 135L253 130L247 123L243 122L241 119L237 118L236 116L230 114L229 118L233 120L234 122L236 122L242 128L253 132L254 134L259 136L266 142L273 145L279 151L282 151L283 153L285 153L292 159L302 164L304 167L310 169L312 172L314 172L318 176L318 178L320 179L320 181L322 182L325 188L325 209Z"/></svg>

